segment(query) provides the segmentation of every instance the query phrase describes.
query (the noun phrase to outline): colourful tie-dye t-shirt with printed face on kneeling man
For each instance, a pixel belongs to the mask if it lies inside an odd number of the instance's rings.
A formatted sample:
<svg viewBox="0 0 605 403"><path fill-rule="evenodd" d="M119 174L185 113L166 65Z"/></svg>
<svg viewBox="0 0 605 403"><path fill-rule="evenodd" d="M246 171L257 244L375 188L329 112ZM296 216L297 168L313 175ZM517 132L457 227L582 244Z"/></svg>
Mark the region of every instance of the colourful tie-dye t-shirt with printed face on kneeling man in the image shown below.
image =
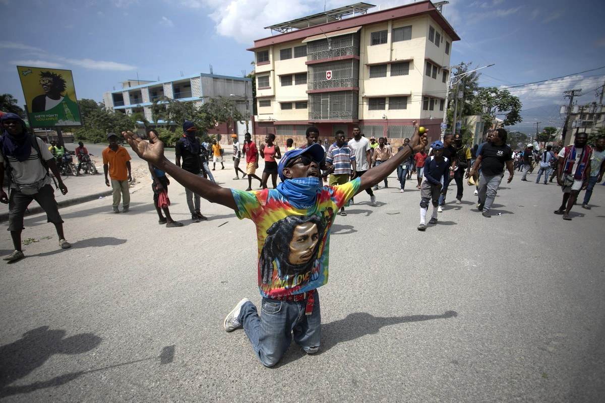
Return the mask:
<svg viewBox="0 0 605 403"><path fill-rule="evenodd" d="M336 214L359 189L359 178L319 188L315 205L291 205L275 189L232 189L238 218L257 227L258 288L263 297L301 294L328 282L330 230Z"/></svg>

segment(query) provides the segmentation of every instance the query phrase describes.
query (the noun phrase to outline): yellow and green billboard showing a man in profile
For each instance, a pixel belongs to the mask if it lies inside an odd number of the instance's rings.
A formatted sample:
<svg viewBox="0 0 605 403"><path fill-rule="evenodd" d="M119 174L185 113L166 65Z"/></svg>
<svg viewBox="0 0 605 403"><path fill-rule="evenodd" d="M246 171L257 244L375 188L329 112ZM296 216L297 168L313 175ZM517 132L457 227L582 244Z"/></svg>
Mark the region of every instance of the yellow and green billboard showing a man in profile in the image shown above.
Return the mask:
<svg viewBox="0 0 605 403"><path fill-rule="evenodd" d="M81 126L71 70L17 66L31 127Z"/></svg>

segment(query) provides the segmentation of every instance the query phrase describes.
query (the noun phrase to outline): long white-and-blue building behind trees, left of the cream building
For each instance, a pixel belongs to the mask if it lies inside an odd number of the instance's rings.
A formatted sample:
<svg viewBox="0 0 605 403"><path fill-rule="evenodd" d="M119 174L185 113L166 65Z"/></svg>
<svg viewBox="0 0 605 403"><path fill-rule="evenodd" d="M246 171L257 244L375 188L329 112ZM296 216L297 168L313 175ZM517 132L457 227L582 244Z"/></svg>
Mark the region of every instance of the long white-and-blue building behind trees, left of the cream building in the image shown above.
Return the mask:
<svg viewBox="0 0 605 403"><path fill-rule="evenodd" d="M193 74L166 81L126 80L122 89L105 92L105 107L131 115L140 112L153 121L151 105L160 97L168 97L180 102L193 102L203 105L203 97L232 97L242 115L252 114L252 80L245 77L219 76L217 74ZM162 121L157 122L162 124ZM237 133L242 135L246 124L235 122L235 127L219 124L215 131L221 134ZM214 132L214 131L213 131Z"/></svg>

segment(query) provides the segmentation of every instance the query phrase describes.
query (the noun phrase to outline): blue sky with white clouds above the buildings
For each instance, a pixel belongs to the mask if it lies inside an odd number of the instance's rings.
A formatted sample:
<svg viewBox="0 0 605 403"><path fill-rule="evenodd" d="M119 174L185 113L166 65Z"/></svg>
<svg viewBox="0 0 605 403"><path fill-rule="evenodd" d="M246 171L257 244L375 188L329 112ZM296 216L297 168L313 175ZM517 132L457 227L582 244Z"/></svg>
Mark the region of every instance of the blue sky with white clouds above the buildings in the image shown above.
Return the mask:
<svg viewBox="0 0 605 403"><path fill-rule="evenodd" d="M270 36L263 27L355 2L0 0L0 92L24 103L16 65L71 69L77 97L98 101L137 74L168 80L209 73L212 65L215 74L242 76L253 69L246 48ZM365 2L377 6L371 12L413 1ZM554 105L567 103L567 89L583 89L579 102L598 102L595 90L605 81L605 3L450 0L443 15L462 38L453 44L452 64L495 63L482 70L480 85L514 87L524 109L546 106L525 114L519 129L535 128L535 121L560 126Z"/></svg>

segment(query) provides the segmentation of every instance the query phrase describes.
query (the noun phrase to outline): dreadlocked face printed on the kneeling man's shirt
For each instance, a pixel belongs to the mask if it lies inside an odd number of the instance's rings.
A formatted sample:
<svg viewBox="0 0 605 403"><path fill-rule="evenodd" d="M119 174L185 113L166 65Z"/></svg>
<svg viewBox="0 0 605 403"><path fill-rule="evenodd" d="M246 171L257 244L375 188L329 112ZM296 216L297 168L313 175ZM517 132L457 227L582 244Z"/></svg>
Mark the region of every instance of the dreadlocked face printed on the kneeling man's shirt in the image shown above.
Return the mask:
<svg viewBox="0 0 605 403"><path fill-rule="evenodd" d="M273 282L275 272L286 289L313 280L319 273L317 257L324 236L318 215L288 216L271 225L259 262L263 285Z"/></svg>

